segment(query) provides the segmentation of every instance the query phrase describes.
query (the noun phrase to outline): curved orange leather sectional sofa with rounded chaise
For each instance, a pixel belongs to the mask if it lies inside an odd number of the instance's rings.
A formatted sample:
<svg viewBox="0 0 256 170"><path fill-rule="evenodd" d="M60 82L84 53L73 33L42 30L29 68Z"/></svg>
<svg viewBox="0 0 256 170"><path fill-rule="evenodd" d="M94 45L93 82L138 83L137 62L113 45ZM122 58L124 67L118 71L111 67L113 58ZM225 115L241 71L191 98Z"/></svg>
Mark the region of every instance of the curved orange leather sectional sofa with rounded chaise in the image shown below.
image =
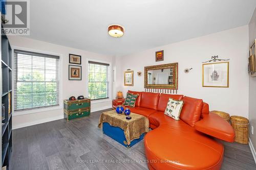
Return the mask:
<svg viewBox="0 0 256 170"><path fill-rule="evenodd" d="M146 116L153 129L144 137L149 169L220 169L224 148L216 138L233 142L232 127L209 114L201 99L179 94L128 91L139 94L131 112ZM180 120L164 114L169 98L183 100Z"/></svg>

